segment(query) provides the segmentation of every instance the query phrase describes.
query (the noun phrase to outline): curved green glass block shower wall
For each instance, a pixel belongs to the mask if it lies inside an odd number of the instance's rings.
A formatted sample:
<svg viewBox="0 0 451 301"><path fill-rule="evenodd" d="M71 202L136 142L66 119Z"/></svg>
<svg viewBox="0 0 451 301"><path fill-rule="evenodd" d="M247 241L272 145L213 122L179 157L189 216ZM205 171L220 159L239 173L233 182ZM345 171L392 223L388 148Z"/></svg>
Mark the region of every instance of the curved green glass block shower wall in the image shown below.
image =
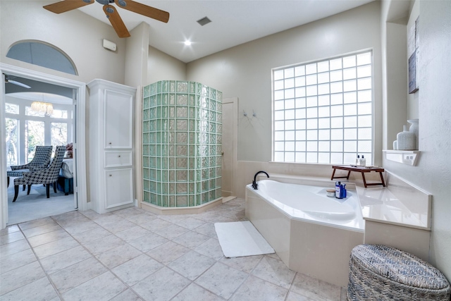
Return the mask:
<svg viewBox="0 0 451 301"><path fill-rule="evenodd" d="M144 202L193 207L221 197L222 93L199 82L144 87Z"/></svg>

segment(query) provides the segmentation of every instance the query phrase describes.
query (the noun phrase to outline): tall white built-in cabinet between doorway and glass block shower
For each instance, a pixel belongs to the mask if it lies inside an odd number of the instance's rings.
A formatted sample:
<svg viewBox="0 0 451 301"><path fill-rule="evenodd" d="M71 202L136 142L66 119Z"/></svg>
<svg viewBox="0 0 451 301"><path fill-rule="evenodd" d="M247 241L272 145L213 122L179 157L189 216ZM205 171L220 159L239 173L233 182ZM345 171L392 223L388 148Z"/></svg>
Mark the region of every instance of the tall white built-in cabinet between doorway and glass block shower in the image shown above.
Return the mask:
<svg viewBox="0 0 451 301"><path fill-rule="evenodd" d="M133 117L136 89L107 80L89 87L89 201L105 213L134 205Z"/></svg>

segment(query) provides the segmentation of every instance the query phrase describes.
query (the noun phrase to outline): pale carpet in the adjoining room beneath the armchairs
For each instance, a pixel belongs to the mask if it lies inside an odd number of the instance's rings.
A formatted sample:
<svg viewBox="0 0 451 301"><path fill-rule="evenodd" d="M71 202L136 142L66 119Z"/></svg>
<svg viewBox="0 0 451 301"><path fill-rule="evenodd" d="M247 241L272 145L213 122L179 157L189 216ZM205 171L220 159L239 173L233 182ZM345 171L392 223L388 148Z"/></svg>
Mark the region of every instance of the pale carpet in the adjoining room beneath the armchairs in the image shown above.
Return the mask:
<svg viewBox="0 0 451 301"><path fill-rule="evenodd" d="M10 182L8 187L8 225L75 210L74 195L64 195L64 192L59 190L55 193L54 188L50 187L50 197L47 199L43 185L32 185L30 195L27 195L26 189L22 191L22 185L20 185L19 195L16 202L13 202L13 183Z"/></svg>

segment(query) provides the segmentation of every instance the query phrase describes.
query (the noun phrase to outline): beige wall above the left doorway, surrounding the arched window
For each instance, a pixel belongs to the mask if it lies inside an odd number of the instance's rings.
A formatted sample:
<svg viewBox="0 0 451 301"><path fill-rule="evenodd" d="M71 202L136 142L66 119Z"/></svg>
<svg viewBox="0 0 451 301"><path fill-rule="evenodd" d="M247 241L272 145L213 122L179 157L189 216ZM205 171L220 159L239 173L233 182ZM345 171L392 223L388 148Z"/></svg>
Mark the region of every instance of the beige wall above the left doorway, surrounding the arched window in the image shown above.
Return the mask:
<svg viewBox="0 0 451 301"><path fill-rule="evenodd" d="M117 37L110 25L80 11L56 14L42 8L52 2L0 1L0 61L81 82L103 78L124 83L125 39ZM75 63L79 75L68 75L7 58L9 47L24 39L47 42L66 52ZM102 39L115 42L118 49L115 52L104 49Z"/></svg>

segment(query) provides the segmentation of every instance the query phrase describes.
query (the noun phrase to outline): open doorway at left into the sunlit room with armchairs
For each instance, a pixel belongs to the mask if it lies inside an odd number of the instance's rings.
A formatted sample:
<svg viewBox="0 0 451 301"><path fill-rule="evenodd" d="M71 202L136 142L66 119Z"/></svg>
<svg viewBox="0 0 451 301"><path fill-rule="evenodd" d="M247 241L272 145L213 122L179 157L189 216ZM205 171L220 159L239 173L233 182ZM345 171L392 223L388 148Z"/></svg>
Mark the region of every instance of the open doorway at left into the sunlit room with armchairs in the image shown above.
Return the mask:
<svg viewBox="0 0 451 301"><path fill-rule="evenodd" d="M57 145L63 146L66 151L67 145L73 142L73 89L66 88L66 95L53 94L56 89L52 85L19 77L14 80L30 88L6 83L6 164L22 169L18 166L30 164L36 157L39 145L52 146L51 156L54 157ZM58 87L58 90L62 89ZM8 170L8 225L77 209L77 199L71 185L74 160L66 154L61 169L56 171L58 185L49 187L49 198L44 185L28 185L27 191L18 190L16 202L13 202L16 196L14 180L18 175L12 176Z"/></svg>

